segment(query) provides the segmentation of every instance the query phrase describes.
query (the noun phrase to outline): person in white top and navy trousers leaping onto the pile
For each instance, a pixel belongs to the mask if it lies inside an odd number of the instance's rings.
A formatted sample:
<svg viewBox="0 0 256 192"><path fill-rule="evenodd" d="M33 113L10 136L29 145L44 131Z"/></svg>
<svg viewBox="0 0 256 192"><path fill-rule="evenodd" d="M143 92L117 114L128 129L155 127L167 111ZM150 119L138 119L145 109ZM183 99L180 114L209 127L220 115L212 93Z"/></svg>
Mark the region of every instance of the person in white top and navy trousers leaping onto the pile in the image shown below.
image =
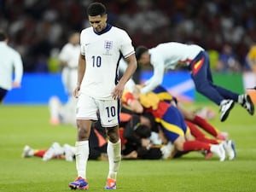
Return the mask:
<svg viewBox="0 0 256 192"><path fill-rule="evenodd" d="M137 61L142 65L152 65L154 75L145 83L142 93L154 90L162 83L166 70L177 67L187 67L194 80L195 89L203 96L207 96L220 107L220 120L227 119L234 103L238 102L248 113L254 113L253 102L247 94L237 94L221 86L213 84L207 51L196 44L181 44L170 42L159 44L148 49L138 46L136 49Z"/></svg>

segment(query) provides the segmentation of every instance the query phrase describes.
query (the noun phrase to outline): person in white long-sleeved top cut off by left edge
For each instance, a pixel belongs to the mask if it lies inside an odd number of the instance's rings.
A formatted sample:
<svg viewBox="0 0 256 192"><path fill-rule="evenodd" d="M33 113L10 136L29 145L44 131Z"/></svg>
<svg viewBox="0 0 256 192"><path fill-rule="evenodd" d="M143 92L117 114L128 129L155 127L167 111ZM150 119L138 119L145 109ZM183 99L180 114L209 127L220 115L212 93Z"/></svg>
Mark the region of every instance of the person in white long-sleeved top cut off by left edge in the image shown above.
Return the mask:
<svg viewBox="0 0 256 192"><path fill-rule="evenodd" d="M19 88L23 76L20 53L8 44L7 34L0 31L0 103L12 88ZM15 70L15 79L13 71Z"/></svg>

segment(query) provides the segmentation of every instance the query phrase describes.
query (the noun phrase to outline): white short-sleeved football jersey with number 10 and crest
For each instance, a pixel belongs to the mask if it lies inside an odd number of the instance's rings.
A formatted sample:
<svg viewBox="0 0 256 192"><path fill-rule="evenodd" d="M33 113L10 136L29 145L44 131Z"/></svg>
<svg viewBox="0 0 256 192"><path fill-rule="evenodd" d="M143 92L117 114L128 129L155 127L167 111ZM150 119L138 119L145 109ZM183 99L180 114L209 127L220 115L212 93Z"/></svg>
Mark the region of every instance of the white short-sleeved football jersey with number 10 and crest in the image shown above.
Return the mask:
<svg viewBox="0 0 256 192"><path fill-rule="evenodd" d="M80 44L86 61L80 92L100 100L112 99L118 82L119 59L121 55L135 53L131 38L115 26L108 25L100 34L89 27L81 32Z"/></svg>

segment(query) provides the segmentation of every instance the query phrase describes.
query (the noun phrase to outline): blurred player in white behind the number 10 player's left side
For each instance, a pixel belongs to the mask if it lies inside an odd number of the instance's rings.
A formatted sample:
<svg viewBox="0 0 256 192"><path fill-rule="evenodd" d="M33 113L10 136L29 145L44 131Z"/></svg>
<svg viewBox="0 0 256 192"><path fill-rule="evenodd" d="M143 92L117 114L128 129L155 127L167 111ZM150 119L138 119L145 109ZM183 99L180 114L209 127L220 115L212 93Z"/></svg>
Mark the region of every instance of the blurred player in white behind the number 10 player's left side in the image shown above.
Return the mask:
<svg viewBox="0 0 256 192"><path fill-rule="evenodd" d="M64 104L61 103L57 96L52 96L49 99L50 123L52 125L58 125L59 123L76 125L75 111L77 98L73 96L73 90L75 90L78 81L79 41L79 32L73 32L59 55L60 65L63 67L61 79L68 98Z"/></svg>

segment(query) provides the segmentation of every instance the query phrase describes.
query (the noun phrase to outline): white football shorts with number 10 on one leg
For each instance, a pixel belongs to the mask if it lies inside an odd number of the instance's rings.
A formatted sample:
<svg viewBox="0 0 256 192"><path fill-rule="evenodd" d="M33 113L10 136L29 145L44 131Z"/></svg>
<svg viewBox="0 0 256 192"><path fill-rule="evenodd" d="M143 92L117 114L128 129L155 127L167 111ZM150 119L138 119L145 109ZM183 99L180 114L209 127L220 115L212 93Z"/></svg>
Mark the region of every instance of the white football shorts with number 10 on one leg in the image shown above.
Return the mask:
<svg viewBox="0 0 256 192"><path fill-rule="evenodd" d="M84 94L79 95L76 119L101 119L102 127L119 125L119 100L97 100Z"/></svg>

